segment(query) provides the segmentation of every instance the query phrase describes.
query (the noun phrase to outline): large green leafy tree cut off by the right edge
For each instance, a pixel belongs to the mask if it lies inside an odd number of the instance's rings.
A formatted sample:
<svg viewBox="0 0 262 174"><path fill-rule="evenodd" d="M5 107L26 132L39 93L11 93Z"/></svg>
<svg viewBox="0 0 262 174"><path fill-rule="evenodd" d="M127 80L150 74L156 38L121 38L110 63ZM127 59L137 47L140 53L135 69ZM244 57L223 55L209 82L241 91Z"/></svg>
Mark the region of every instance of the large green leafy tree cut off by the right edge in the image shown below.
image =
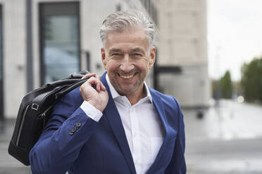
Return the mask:
<svg viewBox="0 0 262 174"><path fill-rule="evenodd" d="M262 102L262 56L242 65L242 89L245 100Z"/></svg>

